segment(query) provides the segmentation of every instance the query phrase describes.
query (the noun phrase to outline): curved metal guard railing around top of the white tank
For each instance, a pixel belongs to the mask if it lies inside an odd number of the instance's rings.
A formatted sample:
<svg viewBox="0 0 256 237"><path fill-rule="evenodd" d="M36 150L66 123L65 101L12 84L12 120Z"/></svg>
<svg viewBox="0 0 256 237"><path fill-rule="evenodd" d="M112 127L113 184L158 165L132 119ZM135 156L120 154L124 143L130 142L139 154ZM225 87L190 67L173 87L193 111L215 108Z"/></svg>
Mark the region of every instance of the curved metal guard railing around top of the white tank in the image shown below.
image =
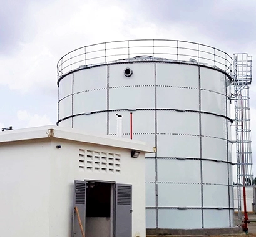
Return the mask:
<svg viewBox="0 0 256 237"><path fill-rule="evenodd" d="M74 70L93 65L107 64L136 56L149 56L201 64L227 72L231 75L232 57L225 52L204 44L167 39L140 39L131 41L112 41L80 47L65 54L57 64L58 79Z"/></svg>

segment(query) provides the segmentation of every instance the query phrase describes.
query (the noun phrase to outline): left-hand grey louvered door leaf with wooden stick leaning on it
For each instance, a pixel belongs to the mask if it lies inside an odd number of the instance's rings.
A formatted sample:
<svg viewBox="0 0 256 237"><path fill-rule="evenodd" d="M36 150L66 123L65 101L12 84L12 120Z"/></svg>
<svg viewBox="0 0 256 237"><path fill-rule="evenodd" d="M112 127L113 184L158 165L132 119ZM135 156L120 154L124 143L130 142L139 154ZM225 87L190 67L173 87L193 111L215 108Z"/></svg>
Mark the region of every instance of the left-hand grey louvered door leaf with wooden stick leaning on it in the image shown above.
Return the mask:
<svg viewBox="0 0 256 237"><path fill-rule="evenodd" d="M75 211L75 207L78 212ZM85 233L86 223L86 181L74 181L74 206L73 206L73 237L83 237L81 227L79 225L79 218L81 220L81 226Z"/></svg>

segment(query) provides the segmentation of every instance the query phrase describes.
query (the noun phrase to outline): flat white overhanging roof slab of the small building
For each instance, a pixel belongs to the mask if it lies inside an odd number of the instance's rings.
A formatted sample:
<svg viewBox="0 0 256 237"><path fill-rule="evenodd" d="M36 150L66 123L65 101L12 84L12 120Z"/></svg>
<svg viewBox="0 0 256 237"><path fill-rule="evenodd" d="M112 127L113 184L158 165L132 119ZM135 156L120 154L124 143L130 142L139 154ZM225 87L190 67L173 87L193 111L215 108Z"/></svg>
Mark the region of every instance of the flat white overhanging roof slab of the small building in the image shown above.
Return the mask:
<svg viewBox="0 0 256 237"><path fill-rule="evenodd" d="M91 143L95 145L105 145L108 147L138 150L146 153L155 152L155 148L146 145L145 142L130 140L127 138L110 137L107 135L91 135L72 128L63 128L54 125L0 132L0 145L7 142L36 140L42 138L58 138L75 142Z"/></svg>

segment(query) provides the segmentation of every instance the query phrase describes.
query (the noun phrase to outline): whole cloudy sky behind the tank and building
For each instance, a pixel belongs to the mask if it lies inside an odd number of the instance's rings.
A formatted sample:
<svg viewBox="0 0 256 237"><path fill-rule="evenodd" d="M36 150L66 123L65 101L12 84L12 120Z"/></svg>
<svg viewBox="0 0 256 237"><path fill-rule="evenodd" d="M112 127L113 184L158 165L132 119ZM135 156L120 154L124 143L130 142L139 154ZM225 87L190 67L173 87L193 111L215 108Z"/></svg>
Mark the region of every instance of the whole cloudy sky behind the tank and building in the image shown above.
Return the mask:
<svg viewBox="0 0 256 237"><path fill-rule="evenodd" d="M255 12L252 0L2 1L0 128L56 124L56 64L73 49L125 39L178 39L255 57ZM254 140L254 83L250 98Z"/></svg>

